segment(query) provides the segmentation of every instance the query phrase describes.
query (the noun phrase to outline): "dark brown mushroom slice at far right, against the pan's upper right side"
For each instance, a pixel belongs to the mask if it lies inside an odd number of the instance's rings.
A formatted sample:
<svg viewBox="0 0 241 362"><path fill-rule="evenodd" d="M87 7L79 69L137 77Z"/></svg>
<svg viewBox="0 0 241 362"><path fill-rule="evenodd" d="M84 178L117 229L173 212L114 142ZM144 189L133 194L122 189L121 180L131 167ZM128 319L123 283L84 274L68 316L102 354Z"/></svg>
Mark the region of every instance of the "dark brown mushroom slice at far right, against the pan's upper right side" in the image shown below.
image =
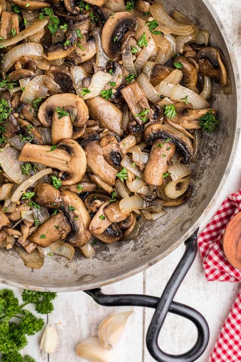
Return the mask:
<svg viewBox="0 0 241 362"><path fill-rule="evenodd" d="M199 73L215 78L223 86L227 85L227 71L219 49L207 46L199 50L196 58Z"/></svg>

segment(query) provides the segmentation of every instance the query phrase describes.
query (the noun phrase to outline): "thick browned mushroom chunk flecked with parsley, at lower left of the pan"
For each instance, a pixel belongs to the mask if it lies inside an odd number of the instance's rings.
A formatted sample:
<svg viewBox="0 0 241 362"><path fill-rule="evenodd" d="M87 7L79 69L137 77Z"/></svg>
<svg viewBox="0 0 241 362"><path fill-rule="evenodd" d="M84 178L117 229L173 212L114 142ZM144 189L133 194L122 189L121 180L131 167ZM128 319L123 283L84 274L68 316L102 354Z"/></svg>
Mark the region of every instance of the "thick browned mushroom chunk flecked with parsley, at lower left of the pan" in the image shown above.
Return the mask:
<svg viewBox="0 0 241 362"><path fill-rule="evenodd" d="M44 221L43 224L28 237L28 240L39 246L48 247L59 239L65 239L70 232L71 226L68 220L61 212L58 212L56 215Z"/></svg>

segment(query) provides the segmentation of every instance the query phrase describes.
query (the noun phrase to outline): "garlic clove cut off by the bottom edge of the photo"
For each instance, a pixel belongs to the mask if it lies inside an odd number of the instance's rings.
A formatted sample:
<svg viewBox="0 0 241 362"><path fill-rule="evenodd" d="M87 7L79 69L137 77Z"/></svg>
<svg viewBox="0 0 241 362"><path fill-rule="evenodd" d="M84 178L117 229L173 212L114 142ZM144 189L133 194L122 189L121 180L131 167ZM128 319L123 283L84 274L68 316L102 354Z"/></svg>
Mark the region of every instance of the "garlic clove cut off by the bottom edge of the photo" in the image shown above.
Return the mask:
<svg viewBox="0 0 241 362"><path fill-rule="evenodd" d="M76 354L89 362L113 362L116 356L113 351L107 351L98 337L89 337L76 346Z"/></svg>

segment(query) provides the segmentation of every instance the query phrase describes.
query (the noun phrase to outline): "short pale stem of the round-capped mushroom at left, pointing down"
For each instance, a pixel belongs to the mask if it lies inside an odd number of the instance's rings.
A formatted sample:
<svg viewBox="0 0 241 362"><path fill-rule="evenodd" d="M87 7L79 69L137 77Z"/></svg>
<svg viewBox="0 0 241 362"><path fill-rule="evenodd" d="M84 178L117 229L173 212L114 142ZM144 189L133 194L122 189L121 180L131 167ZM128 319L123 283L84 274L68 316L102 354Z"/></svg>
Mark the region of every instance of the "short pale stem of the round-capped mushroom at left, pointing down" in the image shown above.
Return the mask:
<svg viewBox="0 0 241 362"><path fill-rule="evenodd" d="M70 116L63 116L59 119L57 112L53 113L52 119L52 140L55 145L64 138L72 138L73 123Z"/></svg>

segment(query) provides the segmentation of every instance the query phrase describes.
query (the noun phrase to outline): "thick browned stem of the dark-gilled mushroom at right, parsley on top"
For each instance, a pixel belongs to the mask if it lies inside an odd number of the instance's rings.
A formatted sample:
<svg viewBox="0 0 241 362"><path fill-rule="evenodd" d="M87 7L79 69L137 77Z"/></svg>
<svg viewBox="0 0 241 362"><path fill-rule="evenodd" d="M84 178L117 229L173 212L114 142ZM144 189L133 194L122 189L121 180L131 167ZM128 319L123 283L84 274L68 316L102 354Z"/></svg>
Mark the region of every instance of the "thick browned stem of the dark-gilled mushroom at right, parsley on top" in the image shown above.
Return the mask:
<svg viewBox="0 0 241 362"><path fill-rule="evenodd" d="M149 159L145 166L144 180L150 185L160 186L165 178L169 162L175 153L175 145L158 138L150 151Z"/></svg>

